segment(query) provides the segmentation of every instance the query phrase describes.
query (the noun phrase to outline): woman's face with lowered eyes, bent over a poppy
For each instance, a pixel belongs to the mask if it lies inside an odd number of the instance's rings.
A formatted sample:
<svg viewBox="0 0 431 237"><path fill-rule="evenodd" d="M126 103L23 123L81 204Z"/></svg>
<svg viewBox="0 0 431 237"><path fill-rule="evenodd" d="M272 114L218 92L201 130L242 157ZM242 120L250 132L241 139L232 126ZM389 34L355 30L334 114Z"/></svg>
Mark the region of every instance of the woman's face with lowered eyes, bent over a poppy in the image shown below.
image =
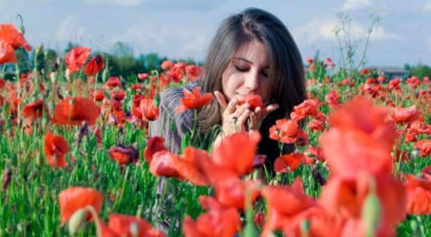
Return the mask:
<svg viewBox="0 0 431 237"><path fill-rule="evenodd" d="M245 43L232 56L222 74L222 89L227 101L257 94L269 100L269 53L259 40Z"/></svg>

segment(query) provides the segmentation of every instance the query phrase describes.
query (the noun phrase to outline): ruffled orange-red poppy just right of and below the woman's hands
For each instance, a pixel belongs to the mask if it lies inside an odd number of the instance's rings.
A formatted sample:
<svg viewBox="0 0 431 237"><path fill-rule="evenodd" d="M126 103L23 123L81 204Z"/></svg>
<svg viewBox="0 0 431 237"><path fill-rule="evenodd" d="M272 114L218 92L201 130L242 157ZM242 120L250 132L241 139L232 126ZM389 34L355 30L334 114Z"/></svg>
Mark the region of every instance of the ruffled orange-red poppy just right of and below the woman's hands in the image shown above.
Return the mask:
<svg viewBox="0 0 431 237"><path fill-rule="evenodd" d="M275 125L269 128L269 138L273 140L280 139L280 142L291 144L296 141L298 133L298 122L291 119L278 119Z"/></svg>

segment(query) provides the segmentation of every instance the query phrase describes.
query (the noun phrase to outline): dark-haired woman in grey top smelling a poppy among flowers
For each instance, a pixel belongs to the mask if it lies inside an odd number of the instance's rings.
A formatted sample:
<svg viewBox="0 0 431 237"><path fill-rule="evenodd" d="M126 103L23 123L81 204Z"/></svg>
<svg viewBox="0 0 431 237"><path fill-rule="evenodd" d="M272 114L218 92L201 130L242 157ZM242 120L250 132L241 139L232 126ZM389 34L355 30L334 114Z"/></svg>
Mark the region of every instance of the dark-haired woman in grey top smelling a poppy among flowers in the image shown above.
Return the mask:
<svg viewBox="0 0 431 237"><path fill-rule="evenodd" d="M266 155L270 163L279 150L277 142L269 139L269 128L275 120L289 118L294 105L305 100L304 81L301 54L285 25L271 13L248 8L222 22L209 47L202 78L186 89L199 86L202 93L215 95L216 100L197 114L202 133L221 125L214 145L236 130L259 130L262 141L257 153ZM264 107L239 106L246 94L260 95ZM176 112L182 88L167 89L160 97L160 116L150 124L150 136L164 137L169 151L177 153L181 139L193 128L193 112ZM283 151L290 153L292 147Z"/></svg>

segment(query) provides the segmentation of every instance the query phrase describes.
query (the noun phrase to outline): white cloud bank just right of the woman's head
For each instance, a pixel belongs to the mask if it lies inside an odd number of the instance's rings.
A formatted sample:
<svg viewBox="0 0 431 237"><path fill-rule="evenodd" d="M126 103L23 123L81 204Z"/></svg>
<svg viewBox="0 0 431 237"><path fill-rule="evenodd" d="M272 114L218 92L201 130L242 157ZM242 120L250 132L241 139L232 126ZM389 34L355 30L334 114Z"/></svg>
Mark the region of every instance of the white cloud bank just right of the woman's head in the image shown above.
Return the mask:
<svg viewBox="0 0 431 237"><path fill-rule="evenodd" d="M292 30L292 34L296 40L305 41L306 43L315 43L322 40L336 40L334 29L339 26L335 17L322 19L313 18L308 24L299 26ZM351 40L358 40L368 35L367 27L358 22L351 21L349 29L349 37ZM342 32L340 32L341 34ZM390 33L383 26L375 26L372 30L370 40L399 40L401 37L395 33Z"/></svg>

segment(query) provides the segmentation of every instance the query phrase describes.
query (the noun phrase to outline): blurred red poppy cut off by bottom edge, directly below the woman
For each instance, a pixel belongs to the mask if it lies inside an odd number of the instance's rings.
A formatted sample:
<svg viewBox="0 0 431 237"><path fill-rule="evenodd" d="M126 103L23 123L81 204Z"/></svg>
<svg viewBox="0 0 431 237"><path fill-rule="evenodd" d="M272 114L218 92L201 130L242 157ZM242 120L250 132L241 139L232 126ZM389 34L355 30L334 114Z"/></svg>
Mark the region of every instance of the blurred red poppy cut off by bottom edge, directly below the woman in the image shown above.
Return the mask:
<svg viewBox="0 0 431 237"><path fill-rule="evenodd" d="M241 219L235 208L222 208L220 204L206 206L206 197L199 197L201 206L208 209L192 220L189 215L183 220L183 234L186 237L232 237L241 228Z"/></svg>

